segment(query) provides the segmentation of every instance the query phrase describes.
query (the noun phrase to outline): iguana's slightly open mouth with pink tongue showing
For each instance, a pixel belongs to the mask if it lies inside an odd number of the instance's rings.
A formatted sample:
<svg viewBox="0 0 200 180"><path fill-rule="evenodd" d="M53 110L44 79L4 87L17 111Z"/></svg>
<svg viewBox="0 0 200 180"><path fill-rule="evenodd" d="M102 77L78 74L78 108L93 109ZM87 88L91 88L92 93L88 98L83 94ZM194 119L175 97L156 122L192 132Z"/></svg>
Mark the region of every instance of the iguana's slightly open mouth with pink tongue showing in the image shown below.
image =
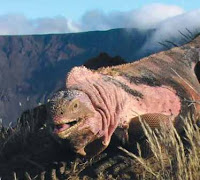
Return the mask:
<svg viewBox="0 0 200 180"><path fill-rule="evenodd" d="M72 129L76 128L81 122L81 118L74 119L71 121L59 121L54 124L54 133L59 134L63 131L71 131Z"/></svg>

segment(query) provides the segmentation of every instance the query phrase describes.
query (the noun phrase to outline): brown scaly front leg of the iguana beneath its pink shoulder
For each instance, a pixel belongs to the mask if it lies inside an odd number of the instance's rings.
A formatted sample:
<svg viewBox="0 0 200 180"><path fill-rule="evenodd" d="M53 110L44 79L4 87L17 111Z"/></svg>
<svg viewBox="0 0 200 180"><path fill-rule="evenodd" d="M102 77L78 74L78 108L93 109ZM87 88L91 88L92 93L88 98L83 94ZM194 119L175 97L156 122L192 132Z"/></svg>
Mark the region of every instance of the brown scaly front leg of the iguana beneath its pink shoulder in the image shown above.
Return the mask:
<svg viewBox="0 0 200 180"><path fill-rule="evenodd" d="M167 116L159 113L148 113L132 118L129 124L118 127L115 131L115 137L121 142L121 145L130 151L137 152L137 143L140 144L140 150L143 157L152 155L151 148L145 137L145 133L141 124L145 122L152 130L161 128L161 124L167 127L173 125L173 116Z"/></svg>

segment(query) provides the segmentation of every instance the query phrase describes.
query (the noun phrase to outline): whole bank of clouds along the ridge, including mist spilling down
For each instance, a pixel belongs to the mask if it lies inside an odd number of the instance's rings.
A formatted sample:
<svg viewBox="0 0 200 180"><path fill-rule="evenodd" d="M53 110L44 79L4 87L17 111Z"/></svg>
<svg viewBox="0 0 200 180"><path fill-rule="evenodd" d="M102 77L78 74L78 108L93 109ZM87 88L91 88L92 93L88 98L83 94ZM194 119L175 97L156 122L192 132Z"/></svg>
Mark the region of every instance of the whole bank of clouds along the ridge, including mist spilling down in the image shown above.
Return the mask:
<svg viewBox="0 0 200 180"><path fill-rule="evenodd" d="M22 14L7 14L0 16L0 35L69 33L112 28L155 28L154 35L142 49L144 52L150 48L160 48L158 42L177 38L180 36L179 31L184 33L186 28L192 32L200 29L199 17L200 9L184 12L178 6L163 4L151 4L127 12L104 13L93 10L86 12L79 22L63 16L28 19Z"/></svg>

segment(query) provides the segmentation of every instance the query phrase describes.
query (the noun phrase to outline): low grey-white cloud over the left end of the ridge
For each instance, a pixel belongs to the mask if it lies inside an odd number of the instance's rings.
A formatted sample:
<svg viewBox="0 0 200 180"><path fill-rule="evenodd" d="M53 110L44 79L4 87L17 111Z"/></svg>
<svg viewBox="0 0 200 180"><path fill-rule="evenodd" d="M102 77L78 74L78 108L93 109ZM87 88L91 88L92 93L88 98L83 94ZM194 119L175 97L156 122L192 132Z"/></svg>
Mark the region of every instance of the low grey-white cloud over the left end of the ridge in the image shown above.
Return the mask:
<svg viewBox="0 0 200 180"><path fill-rule="evenodd" d="M79 32L79 26L63 16L27 19L22 14L0 16L1 35Z"/></svg>

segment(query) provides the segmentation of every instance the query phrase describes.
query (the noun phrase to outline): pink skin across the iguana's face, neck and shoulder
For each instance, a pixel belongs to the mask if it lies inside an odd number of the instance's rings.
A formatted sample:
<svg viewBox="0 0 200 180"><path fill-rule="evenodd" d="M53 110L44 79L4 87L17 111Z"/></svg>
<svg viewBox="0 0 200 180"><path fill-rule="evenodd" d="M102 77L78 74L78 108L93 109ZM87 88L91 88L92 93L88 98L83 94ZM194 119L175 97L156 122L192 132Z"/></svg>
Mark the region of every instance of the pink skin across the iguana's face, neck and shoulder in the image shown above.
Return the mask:
<svg viewBox="0 0 200 180"><path fill-rule="evenodd" d="M120 82L143 94L142 98L131 97L123 89L110 81L106 81L107 77L109 76L92 72L85 67L74 68L68 75L66 86L72 92L77 91L77 94L71 100L64 100L66 106L61 102L58 103L62 108L65 107L62 115L58 116L58 113L53 115L53 121L57 125L54 133L63 139L71 139L70 135L73 134L73 129L79 134L86 129L92 133L90 138L86 140L76 138L76 142L82 144L81 147L71 142L75 151L81 155L86 155L85 147L96 139L102 142L101 148L95 149L96 154L100 153L109 145L116 128L128 127L131 119L136 116L158 113L175 119L180 112L180 99L172 88L132 85L125 79L116 77L116 80L120 80ZM165 99L162 98L163 96L165 96ZM63 97L61 101L63 101ZM79 105L77 113L72 113L74 116L71 117L70 112L73 112L73 110L67 107L72 106L70 102L73 103L74 101L81 105ZM54 106L54 109L59 109L59 107ZM87 117L82 116L82 114ZM77 119L81 120L75 126L67 124L74 122L74 120L77 121Z"/></svg>

